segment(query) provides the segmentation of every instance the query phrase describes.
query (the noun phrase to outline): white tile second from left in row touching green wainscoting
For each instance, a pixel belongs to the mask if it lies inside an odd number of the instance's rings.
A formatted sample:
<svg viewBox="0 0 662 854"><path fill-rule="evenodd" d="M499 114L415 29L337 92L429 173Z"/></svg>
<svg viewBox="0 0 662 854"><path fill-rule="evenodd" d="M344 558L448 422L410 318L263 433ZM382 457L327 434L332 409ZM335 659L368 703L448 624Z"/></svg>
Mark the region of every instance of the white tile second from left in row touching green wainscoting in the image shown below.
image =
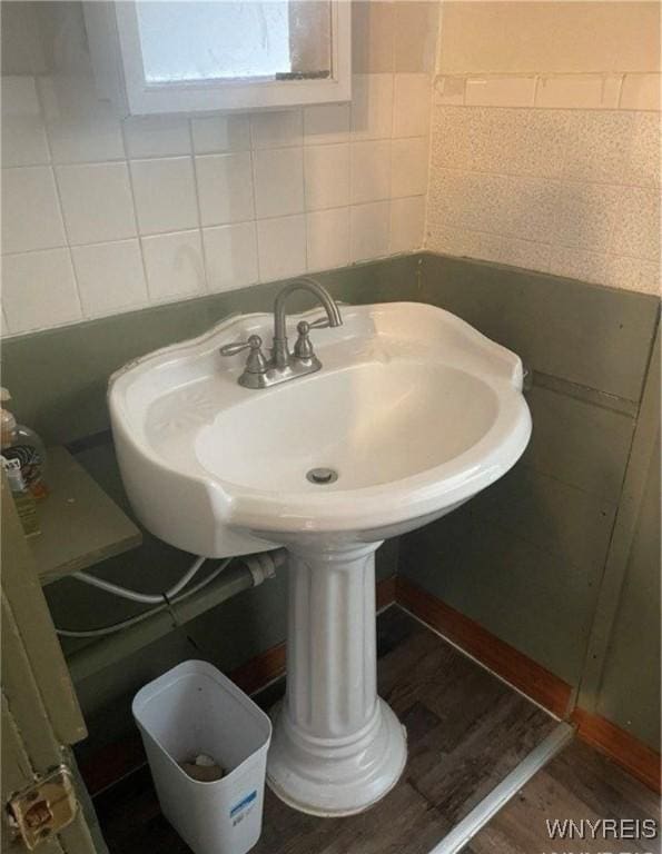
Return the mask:
<svg viewBox="0 0 662 854"><path fill-rule="evenodd" d="M137 239L75 246L71 257L86 317L103 317L147 305L147 284Z"/></svg>

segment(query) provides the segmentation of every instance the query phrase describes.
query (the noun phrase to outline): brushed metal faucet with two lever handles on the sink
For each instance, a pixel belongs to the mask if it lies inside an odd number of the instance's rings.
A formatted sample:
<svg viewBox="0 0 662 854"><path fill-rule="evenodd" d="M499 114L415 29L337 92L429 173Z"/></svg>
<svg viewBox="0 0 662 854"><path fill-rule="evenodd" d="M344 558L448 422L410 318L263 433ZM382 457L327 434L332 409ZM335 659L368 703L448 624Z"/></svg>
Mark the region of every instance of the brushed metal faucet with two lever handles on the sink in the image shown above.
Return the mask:
<svg viewBox="0 0 662 854"><path fill-rule="evenodd" d="M295 290L307 290L314 294L326 311L326 317L308 322L300 320L297 324L298 337L290 352L287 344L287 316L285 304L289 295ZM259 335L251 335L247 341L226 344L220 348L221 356L235 356L241 350L249 350L244 373L237 380L246 388L268 388L277 383L296 379L306 374L319 370L322 363L315 355L309 338L310 329L323 329L329 326L342 326L340 310L328 290L315 279L305 277L286 285L278 292L274 305L274 340L271 342L271 358L267 359L263 352L263 340Z"/></svg>

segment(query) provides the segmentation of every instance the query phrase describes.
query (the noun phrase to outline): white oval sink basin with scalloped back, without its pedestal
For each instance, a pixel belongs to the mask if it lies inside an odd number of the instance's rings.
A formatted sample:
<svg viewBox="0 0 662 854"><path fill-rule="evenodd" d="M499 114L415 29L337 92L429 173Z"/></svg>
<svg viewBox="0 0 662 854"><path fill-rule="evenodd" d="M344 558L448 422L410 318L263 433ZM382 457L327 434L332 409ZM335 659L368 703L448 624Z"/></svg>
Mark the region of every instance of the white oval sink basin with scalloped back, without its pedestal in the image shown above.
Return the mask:
<svg viewBox="0 0 662 854"><path fill-rule="evenodd" d="M270 315L230 319L112 377L122 477L152 533L209 557L317 533L378 540L515 463L531 433L517 356L424 304L346 307L343 319L314 331L320 371L268 389L238 386L245 356L218 348L268 340ZM309 483L316 467L338 479Z"/></svg>

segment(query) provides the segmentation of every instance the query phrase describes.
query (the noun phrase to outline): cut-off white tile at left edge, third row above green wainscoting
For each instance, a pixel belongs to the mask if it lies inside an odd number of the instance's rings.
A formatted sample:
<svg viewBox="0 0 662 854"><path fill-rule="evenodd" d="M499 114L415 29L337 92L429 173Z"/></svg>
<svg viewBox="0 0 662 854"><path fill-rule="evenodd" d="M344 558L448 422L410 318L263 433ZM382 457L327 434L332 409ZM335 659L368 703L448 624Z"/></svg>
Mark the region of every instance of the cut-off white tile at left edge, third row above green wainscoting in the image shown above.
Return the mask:
<svg viewBox="0 0 662 854"><path fill-rule="evenodd" d="M33 77L4 75L2 82L2 166L48 163L46 127Z"/></svg>

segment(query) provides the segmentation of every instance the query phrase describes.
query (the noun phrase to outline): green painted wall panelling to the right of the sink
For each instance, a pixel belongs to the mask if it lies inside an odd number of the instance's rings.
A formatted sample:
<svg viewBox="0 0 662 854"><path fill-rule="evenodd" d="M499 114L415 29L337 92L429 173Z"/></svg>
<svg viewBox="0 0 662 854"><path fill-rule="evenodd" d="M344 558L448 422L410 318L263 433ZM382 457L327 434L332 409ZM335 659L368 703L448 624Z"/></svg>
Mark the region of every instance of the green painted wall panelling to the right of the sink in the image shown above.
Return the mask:
<svg viewBox="0 0 662 854"><path fill-rule="evenodd" d="M533 371L527 393L533 436L502 480L401 539L399 572L577 686L659 302L438 256L423 259L422 297L522 356ZM602 703L616 722L638 718L632 729L642 738L659 719L652 703L659 668L651 654L660 623L651 577L651 564L659 566L659 517L651 509L646 519L633 549L632 590L623 603ZM640 599L646 596L644 608ZM645 627L642 639L626 644L625 626L635 615ZM636 655L646 666L635 677L628 656ZM630 682L646 685L638 709Z"/></svg>

